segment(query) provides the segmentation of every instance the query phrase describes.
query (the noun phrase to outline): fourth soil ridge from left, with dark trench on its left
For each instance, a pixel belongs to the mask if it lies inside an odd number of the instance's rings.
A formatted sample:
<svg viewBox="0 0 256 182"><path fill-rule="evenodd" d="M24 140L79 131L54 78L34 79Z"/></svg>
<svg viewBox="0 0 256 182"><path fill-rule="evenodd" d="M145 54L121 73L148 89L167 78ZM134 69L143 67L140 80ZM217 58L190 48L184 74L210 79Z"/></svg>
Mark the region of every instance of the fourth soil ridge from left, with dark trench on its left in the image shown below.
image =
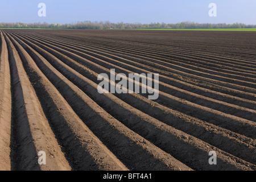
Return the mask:
<svg viewBox="0 0 256 182"><path fill-rule="evenodd" d="M44 75L55 85L82 121L127 168L132 170L191 169L106 113L77 86L53 68L38 52L25 43L19 43L35 60Z"/></svg>

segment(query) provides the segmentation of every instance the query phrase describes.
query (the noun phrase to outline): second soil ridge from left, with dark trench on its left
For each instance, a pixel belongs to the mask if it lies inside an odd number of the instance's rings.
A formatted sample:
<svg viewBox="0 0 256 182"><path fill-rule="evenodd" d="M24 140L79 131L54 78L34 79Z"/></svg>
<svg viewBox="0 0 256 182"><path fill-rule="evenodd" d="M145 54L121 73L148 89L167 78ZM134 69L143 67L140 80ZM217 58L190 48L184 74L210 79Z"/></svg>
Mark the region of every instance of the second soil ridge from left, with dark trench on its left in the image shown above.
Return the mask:
<svg viewBox="0 0 256 182"><path fill-rule="evenodd" d="M15 154L11 168L14 170L67 170L69 164L52 133L35 91L22 67L13 43L5 35L9 50L11 85L13 90L14 140L11 147ZM47 166L39 166L38 154L46 152ZM54 157L53 157L54 156Z"/></svg>

